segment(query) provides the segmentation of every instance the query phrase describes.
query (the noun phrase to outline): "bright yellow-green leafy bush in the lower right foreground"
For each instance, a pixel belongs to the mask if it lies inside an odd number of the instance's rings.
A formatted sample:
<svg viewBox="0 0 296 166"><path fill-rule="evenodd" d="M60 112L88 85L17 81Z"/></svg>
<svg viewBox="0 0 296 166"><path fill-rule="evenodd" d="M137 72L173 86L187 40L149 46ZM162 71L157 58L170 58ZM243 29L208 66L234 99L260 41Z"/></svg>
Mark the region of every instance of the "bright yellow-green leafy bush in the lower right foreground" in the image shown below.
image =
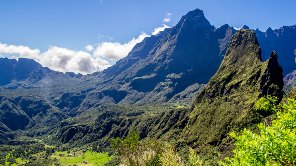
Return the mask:
<svg viewBox="0 0 296 166"><path fill-rule="evenodd" d="M244 129L242 135L231 133L235 143L234 156L223 166L295 166L296 165L296 101L288 98L285 104L275 106L276 97L263 97L255 104L256 109L275 112L271 126L260 123L260 134Z"/></svg>

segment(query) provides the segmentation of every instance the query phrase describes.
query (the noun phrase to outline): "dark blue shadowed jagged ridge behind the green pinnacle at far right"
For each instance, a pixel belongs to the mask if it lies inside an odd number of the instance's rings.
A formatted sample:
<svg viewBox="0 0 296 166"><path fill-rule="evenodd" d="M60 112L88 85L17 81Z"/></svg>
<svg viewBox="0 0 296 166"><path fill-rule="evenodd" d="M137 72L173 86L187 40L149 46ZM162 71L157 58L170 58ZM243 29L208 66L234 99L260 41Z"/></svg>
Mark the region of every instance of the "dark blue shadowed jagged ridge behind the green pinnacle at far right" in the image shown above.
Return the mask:
<svg viewBox="0 0 296 166"><path fill-rule="evenodd" d="M263 61L269 58L271 51L276 51L279 54L279 64L284 69L284 76L296 70L296 25L283 26L278 30L268 28L266 32L256 29L255 32L261 46Z"/></svg>

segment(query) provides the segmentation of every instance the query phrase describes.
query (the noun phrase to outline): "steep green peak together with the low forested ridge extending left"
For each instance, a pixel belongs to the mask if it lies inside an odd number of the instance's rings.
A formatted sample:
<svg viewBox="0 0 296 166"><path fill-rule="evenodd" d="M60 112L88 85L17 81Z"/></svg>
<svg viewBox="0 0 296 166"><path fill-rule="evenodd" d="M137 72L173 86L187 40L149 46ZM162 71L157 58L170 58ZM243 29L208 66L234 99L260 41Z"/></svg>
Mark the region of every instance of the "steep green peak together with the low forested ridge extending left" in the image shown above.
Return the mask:
<svg viewBox="0 0 296 166"><path fill-rule="evenodd" d="M151 106L101 105L63 120L51 131L50 142L83 149L90 144L107 148L111 137L128 135L133 127L141 139L155 137L171 141L179 153L196 149L204 165L231 155L232 131L250 128L270 115L256 111L254 103L262 96L284 96L283 69L272 51L262 62L255 32L241 29L229 43L224 59L208 84L202 88L190 108L149 112ZM160 105L158 108L162 108Z"/></svg>

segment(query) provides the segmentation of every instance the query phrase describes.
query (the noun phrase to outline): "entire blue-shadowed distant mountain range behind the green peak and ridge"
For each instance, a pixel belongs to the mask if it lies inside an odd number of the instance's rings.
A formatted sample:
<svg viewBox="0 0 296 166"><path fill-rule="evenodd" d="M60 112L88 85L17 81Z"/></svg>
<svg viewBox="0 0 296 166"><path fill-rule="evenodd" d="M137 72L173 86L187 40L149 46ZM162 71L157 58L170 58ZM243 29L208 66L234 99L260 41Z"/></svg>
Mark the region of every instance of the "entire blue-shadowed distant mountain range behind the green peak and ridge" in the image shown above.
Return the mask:
<svg viewBox="0 0 296 166"><path fill-rule="evenodd" d="M295 85L291 80L296 70L296 25L253 31L261 60L276 51L287 75L285 83ZM189 106L219 69L236 32L227 24L215 28L202 10L195 9L174 27L137 43L125 58L101 72L63 74L31 59L0 58L0 134L7 138L0 141L12 139L17 129L28 136L45 134L63 119L106 103Z"/></svg>

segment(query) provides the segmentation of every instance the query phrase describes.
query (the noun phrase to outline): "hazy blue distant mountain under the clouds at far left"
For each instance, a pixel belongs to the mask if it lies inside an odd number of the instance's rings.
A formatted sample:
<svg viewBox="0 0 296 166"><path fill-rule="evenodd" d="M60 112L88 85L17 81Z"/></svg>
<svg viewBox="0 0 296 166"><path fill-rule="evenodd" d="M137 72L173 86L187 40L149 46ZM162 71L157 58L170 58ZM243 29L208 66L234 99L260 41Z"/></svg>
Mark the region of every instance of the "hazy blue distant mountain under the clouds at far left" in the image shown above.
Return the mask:
<svg viewBox="0 0 296 166"><path fill-rule="evenodd" d="M76 83L76 79L82 77L82 74L73 72L53 71L28 58L19 58L18 61L0 58L0 65L0 89L52 88Z"/></svg>

